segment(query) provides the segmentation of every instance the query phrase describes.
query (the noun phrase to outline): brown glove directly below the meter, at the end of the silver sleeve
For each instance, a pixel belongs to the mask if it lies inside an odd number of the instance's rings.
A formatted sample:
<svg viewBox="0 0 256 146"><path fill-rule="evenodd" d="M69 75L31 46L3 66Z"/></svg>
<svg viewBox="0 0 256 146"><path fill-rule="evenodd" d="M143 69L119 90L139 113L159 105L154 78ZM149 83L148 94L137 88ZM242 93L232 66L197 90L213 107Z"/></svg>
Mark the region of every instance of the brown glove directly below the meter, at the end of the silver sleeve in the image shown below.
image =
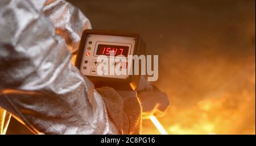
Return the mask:
<svg viewBox="0 0 256 146"><path fill-rule="evenodd" d="M135 91L117 91L99 87L97 92L104 99L108 116L120 134L141 133L141 106Z"/></svg>

